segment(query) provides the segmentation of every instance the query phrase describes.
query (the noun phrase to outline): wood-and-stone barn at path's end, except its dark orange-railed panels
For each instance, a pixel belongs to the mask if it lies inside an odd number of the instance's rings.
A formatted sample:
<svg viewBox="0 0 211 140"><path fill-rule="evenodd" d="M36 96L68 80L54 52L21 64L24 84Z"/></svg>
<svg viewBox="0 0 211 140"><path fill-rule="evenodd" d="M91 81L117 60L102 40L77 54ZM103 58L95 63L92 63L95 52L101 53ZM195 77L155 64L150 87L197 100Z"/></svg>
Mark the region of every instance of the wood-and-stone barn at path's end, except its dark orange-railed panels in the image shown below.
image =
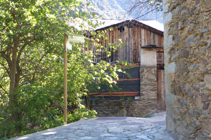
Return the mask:
<svg viewBox="0 0 211 140"><path fill-rule="evenodd" d="M127 110L128 107L122 107L127 105L122 104L119 108L125 108L128 112L126 116L133 116L131 113L134 112L137 115L143 115L156 110L165 110L163 25L156 21L138 20L102 20L102 22L105 22L105 25L97 28L96 31L101 32L113 28L106 33L110 43L117 44L118 40L121 39L125 45L120 46L116 52L111 49L110 57L106 57L102 50L97 55L96 62L106 60L115 63L116 60L119 60L140 63L140 94L134 95L133 98L133 104L136 104L136 107L129 107L130 110ZM108 42L103 38L100 38L99 43L109 47ZM105 113L106 107L108 110L114 109L109 108L110 104L115 103L114 101L93 101L91 108L102 114L99 116L111 116L111 114ZM101 105L104 110L100 109ZM122 114L118 109L113 112L118 112L117 114L113 113L113 116L122 116L118 115Z"/></svg>

